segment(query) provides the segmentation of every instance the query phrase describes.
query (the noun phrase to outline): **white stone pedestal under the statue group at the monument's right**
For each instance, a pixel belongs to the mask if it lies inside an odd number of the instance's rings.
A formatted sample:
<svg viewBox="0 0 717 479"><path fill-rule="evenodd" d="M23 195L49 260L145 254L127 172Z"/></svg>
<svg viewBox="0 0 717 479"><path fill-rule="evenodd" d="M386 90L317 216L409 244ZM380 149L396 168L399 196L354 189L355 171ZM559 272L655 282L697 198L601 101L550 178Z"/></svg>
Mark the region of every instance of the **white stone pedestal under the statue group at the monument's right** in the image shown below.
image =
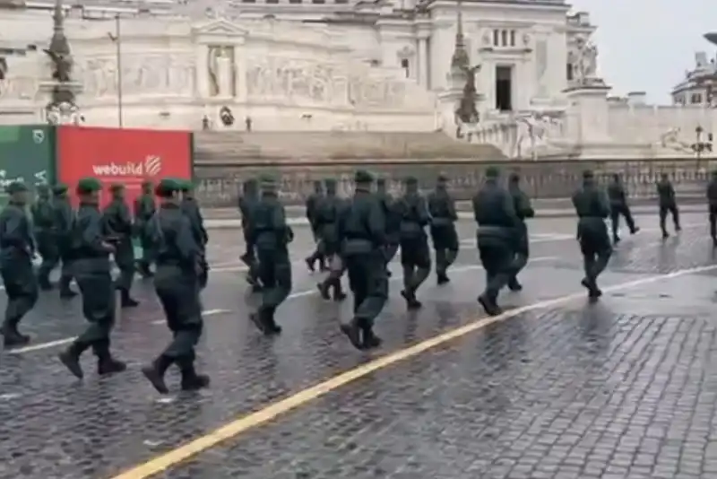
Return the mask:
<svg viewBox="0 0 717 479"><path fill-rule="evenodd" d="M601 81L580 83L566 89L567 135L576 144L609 143L608 92Z"/></svg>

